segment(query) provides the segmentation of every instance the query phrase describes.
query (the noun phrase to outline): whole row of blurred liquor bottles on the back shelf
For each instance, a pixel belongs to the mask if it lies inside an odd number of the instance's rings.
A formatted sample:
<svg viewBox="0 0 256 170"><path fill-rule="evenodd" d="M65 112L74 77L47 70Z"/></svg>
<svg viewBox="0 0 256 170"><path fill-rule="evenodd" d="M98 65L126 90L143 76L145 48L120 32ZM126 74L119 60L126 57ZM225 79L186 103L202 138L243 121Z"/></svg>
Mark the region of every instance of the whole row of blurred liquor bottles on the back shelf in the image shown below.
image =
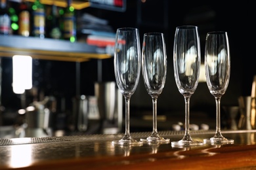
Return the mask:
<svg viewBox="0 0 256 170"><path fill-rule="evenodd" d="M75 10L71 0L66 8L43 5L40 0L1 0L0 34L76 41Z"/></svg>

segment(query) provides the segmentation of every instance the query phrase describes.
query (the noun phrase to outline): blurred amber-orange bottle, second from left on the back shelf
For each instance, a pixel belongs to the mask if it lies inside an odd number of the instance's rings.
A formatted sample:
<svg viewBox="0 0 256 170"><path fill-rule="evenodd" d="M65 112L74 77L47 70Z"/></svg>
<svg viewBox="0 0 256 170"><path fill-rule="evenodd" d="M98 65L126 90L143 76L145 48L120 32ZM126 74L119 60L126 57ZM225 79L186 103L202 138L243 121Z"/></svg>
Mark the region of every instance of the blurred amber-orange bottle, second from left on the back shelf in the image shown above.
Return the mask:
<svg viewBox="0 0 256 170"><path fill-rule="evenodd" d="M18 35L30 36L30 7L24 0L19 6L18 25Z"/></svg>

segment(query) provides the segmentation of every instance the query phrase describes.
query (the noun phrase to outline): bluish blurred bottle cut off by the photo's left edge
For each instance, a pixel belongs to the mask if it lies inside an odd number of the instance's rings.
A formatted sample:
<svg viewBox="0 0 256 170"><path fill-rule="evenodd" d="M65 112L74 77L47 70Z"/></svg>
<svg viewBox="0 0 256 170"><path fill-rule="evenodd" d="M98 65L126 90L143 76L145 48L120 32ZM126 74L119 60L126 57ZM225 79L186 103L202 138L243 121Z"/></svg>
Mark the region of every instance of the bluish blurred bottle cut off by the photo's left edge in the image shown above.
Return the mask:
<svg viewBox="0 0 256 170"><path fill-rule="evenodd" d="M11 31L11 18L7 9L7 1L1 0L0 6L0 34L9 35Z"/></svg>

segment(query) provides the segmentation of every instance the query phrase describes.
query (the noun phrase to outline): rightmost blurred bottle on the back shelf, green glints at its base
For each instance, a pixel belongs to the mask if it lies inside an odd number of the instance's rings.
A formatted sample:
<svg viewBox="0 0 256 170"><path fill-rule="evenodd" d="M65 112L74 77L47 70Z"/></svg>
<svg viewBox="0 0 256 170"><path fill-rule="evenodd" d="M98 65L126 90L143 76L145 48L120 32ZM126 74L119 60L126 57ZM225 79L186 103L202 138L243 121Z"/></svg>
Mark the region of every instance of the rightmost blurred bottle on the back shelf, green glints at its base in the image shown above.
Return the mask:
<svg viewBox="0 0 256 170"><path fill-rule="evenodd" d="M74 7L71 6L71 0L67 1L67 7L64 10L64 33L63 37L65 40L70 42L76 41L76 23L75 23L75 12Z"/></svg>

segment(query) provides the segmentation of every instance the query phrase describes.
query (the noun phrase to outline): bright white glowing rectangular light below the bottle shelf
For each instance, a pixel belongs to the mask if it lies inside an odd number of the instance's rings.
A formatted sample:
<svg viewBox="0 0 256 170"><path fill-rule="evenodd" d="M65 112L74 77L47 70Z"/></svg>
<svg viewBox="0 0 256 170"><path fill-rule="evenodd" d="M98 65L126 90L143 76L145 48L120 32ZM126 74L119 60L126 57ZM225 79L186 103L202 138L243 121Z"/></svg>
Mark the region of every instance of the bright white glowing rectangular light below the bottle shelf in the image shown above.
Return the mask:
<svg viewBox="0 0 256 170"><path fill-rule="evenodd" d="M12 90L14 93L24 93L32 88L32 57L12 57Z"/></svg>

